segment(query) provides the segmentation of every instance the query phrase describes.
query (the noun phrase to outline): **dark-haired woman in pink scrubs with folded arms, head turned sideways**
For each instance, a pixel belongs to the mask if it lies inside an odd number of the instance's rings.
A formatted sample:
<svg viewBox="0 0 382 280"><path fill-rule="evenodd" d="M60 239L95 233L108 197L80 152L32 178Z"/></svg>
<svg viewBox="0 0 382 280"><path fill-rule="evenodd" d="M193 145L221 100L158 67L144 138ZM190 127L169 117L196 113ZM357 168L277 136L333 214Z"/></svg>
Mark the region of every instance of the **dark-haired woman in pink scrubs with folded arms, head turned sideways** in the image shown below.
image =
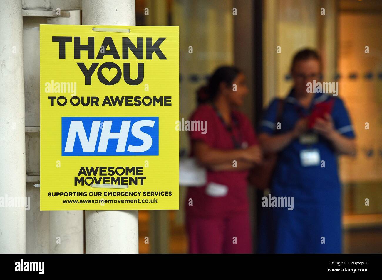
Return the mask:
<svg viewBox="0 0 382 280"><path fill-rule="evenodd" d="M262 155L251 122L236 110L248 94L245 76L221 67L207 93L208 102L191 117L207 122L207 130L190 131L191 154L207 168L207 183L188 188L189 252L252 253L247 177Z"/></svg>

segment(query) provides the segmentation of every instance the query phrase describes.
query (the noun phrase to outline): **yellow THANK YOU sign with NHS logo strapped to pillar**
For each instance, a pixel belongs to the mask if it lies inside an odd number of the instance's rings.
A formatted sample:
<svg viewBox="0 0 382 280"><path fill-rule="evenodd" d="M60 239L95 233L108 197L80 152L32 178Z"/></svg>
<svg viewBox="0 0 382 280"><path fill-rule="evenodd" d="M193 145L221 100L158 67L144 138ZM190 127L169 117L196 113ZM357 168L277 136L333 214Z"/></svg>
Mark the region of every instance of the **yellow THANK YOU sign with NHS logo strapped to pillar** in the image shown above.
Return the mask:
<svg viewBox="0 0 382 280"><path fill-rule="evenodd" d="M179 209L179 28L40 25L40 210Z"/></svg>

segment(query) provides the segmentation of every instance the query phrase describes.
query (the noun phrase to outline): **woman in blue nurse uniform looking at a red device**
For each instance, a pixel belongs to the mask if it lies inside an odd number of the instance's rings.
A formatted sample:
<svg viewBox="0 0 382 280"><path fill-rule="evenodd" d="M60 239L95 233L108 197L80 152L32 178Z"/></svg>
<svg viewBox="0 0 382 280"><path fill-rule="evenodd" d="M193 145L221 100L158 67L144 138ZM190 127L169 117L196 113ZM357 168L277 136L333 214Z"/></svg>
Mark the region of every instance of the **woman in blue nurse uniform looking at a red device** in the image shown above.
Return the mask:
<svg viewBox="0 0 382 280"><path fill-rule="evenodd" d="M341 253L337 154L355 154L353 128L340 98L310 91L321 73L315 51L297 53L291 73L294 86L271 102L259 141L264 152L278 153L271 197L293 197L293 210L262 208L259 252Z"/></svg>

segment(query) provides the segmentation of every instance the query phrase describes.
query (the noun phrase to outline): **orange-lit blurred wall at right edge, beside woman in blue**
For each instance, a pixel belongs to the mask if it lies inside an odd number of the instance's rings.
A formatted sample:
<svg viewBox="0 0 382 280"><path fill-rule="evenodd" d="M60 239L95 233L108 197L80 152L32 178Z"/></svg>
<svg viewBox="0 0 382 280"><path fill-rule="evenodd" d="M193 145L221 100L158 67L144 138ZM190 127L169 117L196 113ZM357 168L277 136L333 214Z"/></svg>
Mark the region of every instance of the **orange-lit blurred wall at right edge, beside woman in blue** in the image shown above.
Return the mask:
<svg viewBox="0 0 382 280"><path fill-rule="evenodd" d="M338 23L338 70L342 76L338 96L349 109L359 147L356 158L342 158L341 175L346 182L381 181L382 82L376 75L382 69L382 39L376 35L380 34L382 14L341 13ZM365 46L369 46L369 53L365 53ZM364 78L367 72L374 78ZM349 78L351 73L358 73L358 78ZM366 150L371 149L374 155L367 157Z"/></svg>

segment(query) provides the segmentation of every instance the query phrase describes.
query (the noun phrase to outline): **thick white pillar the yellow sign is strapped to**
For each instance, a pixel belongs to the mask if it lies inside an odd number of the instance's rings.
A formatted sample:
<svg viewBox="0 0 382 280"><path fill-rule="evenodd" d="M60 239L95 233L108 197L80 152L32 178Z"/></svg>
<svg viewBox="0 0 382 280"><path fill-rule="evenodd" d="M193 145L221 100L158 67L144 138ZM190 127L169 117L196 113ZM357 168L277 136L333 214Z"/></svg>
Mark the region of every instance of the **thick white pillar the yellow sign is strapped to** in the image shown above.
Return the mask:
<svg viewBox="0 0 382 280"><path fill-rule="evenodd" d="M134 0L83 0L84 25L135 25ZM138 210L85 211L86 253L138 253Z"/></svg>

